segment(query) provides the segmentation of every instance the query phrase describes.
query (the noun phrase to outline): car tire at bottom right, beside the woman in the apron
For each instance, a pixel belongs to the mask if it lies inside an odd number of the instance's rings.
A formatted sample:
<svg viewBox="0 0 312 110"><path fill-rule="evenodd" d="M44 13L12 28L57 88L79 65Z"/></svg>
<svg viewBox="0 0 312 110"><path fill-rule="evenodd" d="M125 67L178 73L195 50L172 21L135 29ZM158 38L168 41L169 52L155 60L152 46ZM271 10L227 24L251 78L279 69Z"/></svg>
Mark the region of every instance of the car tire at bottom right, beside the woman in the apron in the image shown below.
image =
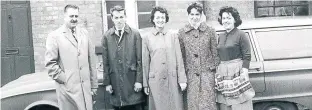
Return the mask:
<svg viewBox="0 0 312 110"><path fill-rule="evenodd" d="M290 102L263 102L254 104L254 110L298 110L298 107Z"/></svg>

